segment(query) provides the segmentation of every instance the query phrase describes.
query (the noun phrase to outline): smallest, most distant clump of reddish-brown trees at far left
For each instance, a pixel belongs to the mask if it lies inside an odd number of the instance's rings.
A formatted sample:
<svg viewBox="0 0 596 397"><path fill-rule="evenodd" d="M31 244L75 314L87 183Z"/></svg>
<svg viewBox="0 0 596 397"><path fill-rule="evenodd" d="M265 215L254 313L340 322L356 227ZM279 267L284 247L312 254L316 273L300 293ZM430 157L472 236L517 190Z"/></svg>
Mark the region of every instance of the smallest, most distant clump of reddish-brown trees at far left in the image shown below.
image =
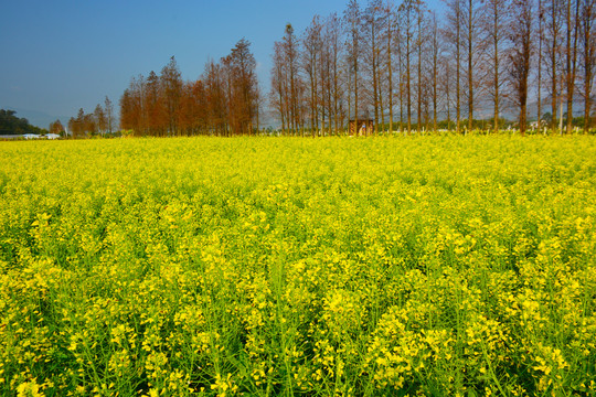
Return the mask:
<svg viewBox="0 0 596 397"><path fill-rule="evenodd" d="M78 114L75 117L71 117L68 120L68 132L73 138L82 138L96 135L113 133L115 125L114 105L111 100L106 96L104 106L97 104L93 112L85 112L83 108L78 109ZM50 125L50 131L64 130L64 127L60 120ZM60 133L56 132L56 133Z"/></svg>

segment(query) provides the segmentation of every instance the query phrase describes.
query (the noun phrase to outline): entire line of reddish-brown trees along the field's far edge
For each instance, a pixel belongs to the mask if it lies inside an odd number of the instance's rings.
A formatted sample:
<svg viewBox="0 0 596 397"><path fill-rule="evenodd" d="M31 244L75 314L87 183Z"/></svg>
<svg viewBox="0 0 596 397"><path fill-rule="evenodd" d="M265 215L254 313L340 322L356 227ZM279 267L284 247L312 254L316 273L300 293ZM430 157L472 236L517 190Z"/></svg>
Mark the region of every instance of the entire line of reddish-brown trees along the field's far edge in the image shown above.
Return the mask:
<svg viewBox="0 0 596 397"><path fill-rule="evenodd" d="M544 131L589 131L595 2L444 0L439 14L424 0L349 0L302 32L286 25L265 97L243 39L196 81L182 79L173 56L159 74L131 78L119 127L137 136L251 135L266 107L284 135L342 133L370 119L374 133L497 132L512 115L521 133L528 120ZM68 129L111 132L110 106L81 109Z"/></svg>

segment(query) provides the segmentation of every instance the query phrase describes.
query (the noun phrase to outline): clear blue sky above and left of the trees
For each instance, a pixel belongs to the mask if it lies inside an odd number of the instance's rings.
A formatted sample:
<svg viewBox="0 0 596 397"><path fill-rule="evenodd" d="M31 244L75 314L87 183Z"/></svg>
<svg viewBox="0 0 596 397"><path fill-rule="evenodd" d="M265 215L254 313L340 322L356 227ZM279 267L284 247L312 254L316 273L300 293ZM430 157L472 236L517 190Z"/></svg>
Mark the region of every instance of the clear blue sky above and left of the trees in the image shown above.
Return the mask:
<svg viewBox="0 0 596 397"><path fill-rule="evenodd" d="M159 73L174 55L182 77L196 79L210 57L242 37L268 85L286 23L300 33L315 14L341 14L347 2L0 0L0 108L71 117L81 107L93 111L106 95L117 105L130 77Z"/></svg>

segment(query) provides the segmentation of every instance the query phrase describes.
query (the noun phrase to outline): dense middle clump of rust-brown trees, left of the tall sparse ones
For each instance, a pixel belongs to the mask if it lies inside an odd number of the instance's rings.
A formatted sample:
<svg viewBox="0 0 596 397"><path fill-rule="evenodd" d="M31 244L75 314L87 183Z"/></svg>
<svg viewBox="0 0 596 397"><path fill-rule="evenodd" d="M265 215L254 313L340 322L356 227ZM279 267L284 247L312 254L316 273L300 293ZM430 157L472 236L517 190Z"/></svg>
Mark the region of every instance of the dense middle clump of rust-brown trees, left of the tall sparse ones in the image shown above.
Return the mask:
<svg viewBox="0 0 596 397"><path fill-rule="evenodd" d="M131 79L120 98L120 127L139 136L249 135L259 128L259 89L251 43L242 39L203 75L183 82L172 56L160 75Z"/></svg>

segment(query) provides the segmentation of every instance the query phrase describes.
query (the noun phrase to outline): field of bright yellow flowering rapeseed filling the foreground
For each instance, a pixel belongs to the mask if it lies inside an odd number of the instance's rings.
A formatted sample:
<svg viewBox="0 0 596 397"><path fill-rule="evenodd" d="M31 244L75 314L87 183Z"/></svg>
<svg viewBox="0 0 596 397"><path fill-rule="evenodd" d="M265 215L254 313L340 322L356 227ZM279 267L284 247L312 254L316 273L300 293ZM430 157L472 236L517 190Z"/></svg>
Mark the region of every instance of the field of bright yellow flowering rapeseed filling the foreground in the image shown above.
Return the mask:
<svg viewBox="0 0 596 397"><path fill-rule="evenodd" d="M596 139L0 142L2 396L596 393Z"/></svg>

